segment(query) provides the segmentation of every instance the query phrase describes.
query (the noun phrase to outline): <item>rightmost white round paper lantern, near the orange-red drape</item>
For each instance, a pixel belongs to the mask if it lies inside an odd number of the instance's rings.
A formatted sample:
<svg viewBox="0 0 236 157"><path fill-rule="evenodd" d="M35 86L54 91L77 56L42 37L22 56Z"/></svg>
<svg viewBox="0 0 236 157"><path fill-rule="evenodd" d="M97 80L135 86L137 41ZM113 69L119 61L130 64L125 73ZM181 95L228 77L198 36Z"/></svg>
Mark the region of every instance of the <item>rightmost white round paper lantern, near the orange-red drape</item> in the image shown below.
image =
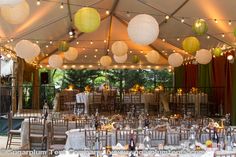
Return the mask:
<svg viewBox="0 0 236 157"><path fill-rule="evenodd" d="M212 60L212 54L206 49L201 49L196 53L196 60L199 64L208 64Z"/></svg>

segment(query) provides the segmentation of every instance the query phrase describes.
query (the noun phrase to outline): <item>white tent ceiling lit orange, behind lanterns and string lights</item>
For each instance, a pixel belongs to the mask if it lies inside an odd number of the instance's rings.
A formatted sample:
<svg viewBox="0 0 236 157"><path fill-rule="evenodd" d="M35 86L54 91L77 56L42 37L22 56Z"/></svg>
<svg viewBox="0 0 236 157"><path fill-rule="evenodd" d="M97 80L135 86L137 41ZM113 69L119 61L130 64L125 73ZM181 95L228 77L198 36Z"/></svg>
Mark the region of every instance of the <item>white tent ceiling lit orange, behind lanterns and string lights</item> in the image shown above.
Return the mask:
<svg viewBox="0 0 236 157"><path fill-rule="evenodd" d="M110 49L112 43L117 40L124 40L128 44L129 56L125 64L116 64L113 60L112 67L168 66L167 58L173 51L181 53L185 58L189 57L182 50L181 43L185 37L194 35L192 24L198 18L206 19L208 24L208 33L198 37L201 48L233 46L235 43L233 33L229 33L236 25L234 21L236 14L233 11L236 6L235 0L41 0L39 6L36 4L37 0L27 0L27 2L30 6L30 17L24 23L11 25L0 17L2 45L14 47L22 39L39 41L41 54L36 61L43 66L48 64L48 57L51 54L61 54L57 51L60 40L70 41L70 45L79 51L77 60L71 62L64 59L67 67L72 65L77 68L89 65L94 68L100 67L100 57L105 55L107 49ZM61 3L64 4L64 9L60 9ZM99 11L101 25L93 33L78 32L77 37L71 39L68 35L70 27L73 26L70 13L73 18L74 13L83 6L91 6ZM107 15L106 10L111 14ZM127 23L141 13L152 15L160 25L158 39L149 46L133 43L127 34ZM166 15L170 16L167 21ZM184 23L181 22L183 17ZM213 19L218 19L218 23L216 24ZM232 20L232 25L228 24L229 20ZM104 40L108 39L109 30L110 40L104 43ZM222 33L225 34L224 38ZM210 36L210 39L207 39L207 36ZM7 43L11 38L14 41ZM165 42L162 39L165 39ZM53 44L49 43L50 40ZM93 44L90 44L91 41ZM145 53L152 49L161 54L160 62L156 65L148 63L145 59ZM109 52L109 55L112 56L112 53ZM133 55L140 56L139 65L132 64Z"/></svg>

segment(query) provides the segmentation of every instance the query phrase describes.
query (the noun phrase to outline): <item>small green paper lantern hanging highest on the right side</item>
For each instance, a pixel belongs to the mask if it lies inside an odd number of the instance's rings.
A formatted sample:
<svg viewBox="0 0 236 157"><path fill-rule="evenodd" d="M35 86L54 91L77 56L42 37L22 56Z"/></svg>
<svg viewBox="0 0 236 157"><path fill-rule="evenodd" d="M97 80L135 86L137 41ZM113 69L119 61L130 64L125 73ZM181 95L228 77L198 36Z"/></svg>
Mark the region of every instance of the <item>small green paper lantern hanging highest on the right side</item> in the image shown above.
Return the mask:
<svg viewBox="0 0 236 157"><path fill-rule="evenodd" d="M203 35L207 32L208 26L205 20L198 19L194 22L192 29L197 35Z"/></svg>

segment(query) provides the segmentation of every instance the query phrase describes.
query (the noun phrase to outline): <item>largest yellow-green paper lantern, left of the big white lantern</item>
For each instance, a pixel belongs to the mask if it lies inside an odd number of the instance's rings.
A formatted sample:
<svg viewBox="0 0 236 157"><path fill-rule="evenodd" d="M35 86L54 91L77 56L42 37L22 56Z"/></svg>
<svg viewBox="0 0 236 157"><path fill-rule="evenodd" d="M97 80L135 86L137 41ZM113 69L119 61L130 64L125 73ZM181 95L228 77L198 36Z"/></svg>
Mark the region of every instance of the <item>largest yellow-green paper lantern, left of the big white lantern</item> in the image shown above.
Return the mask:
<svg viewBox="0 0 236 157"><path fill-rule="evenodd" d="M100 15L94 8L83 7L76 12L74 24L80 32L94 32L100 25Z"/></svg>

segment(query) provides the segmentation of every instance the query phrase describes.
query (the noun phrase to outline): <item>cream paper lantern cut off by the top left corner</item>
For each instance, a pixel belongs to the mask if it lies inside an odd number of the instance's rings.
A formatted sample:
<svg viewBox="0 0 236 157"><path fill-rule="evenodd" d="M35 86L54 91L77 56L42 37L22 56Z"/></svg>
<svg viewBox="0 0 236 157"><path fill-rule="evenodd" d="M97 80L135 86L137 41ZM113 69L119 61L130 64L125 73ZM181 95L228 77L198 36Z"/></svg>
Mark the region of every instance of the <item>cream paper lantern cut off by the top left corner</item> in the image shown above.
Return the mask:
<svg viewBox="0 0 236 157"><path fill-rule="evenodd" d="M30 8L25 0L16 5L7 5L1 7L1 15L3 19L10 24L20 24L24 22L29 14Z"/></svg>

